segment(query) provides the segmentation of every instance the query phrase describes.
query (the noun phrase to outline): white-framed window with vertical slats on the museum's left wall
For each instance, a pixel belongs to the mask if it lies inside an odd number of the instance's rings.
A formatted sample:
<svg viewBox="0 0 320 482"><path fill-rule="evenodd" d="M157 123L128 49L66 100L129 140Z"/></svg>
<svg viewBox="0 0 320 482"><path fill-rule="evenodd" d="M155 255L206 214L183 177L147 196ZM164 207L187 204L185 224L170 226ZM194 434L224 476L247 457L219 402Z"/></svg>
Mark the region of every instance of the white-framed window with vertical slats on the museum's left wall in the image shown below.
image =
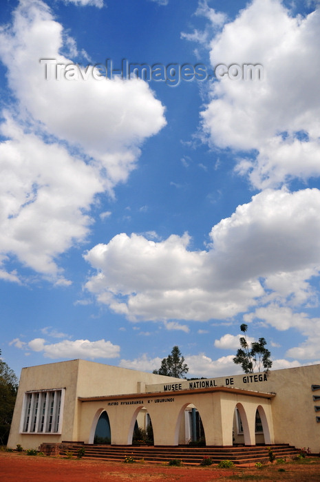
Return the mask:
<svg viewBox="0 0 320 482"><path fill-rule="evenodd" d="M49 401L52 400L52 394L53 406L52 421L50 424L51 403L49 404ZM44 398L45 406L43 406ZM30 407L28 408L29 401ZM47 390L30 390L25 392L23 396L19 433L30 435L61 435L64 405L65 388L49 388ZM41 425L43 425L42 431ZM51 425L50 430L47 430L49 425Z"/></svg>

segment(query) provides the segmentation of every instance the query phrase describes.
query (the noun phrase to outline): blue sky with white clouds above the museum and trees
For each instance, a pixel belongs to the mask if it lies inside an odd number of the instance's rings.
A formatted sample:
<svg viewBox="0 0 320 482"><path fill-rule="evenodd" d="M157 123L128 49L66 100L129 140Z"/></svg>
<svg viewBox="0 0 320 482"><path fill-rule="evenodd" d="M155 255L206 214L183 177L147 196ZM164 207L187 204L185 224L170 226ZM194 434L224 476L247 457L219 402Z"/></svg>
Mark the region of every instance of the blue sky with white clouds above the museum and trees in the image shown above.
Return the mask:
<svg viewBox="0 0 320 482"><path fill-rule="evenodd" d="M74 358L153 370L174 345L190 376L231 375L244 322L274 368L319 363L318 3L4 0L0 15L0 348L17 375ZM105 78L107 59L211 78Z"/></svg>

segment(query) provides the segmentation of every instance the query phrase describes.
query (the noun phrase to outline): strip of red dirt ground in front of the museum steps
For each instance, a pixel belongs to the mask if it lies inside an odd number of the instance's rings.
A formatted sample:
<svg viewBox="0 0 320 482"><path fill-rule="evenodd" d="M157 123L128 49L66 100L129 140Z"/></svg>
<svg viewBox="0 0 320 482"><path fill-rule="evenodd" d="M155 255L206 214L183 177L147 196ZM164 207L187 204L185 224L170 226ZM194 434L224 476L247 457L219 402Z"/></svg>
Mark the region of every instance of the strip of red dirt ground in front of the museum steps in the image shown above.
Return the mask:
<svg viewBox="0 0 320 482"><path fill-rule="evenodd" d="M150 463L105 462L0 452L1 482L320 482L320 459L257 468L169 467Z"/></svg>

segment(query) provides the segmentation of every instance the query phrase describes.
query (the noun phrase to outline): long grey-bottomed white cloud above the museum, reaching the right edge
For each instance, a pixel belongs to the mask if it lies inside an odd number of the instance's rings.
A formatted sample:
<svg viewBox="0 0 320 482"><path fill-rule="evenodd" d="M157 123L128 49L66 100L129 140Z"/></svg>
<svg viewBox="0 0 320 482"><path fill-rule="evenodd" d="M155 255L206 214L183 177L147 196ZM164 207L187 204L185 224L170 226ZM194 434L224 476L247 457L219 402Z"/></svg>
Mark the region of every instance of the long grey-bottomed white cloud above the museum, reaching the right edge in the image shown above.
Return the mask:
<svg viewBox="0 0 320 482"><path fill-rule="evenodd" d="M187 234L158 242L116 235L85 254L96 269L86 288L128 319L167 322L225 319L258 302L313 300L308 280L320 268L318 189L263 191L210 235L206 251L189 250Z"/></svg>

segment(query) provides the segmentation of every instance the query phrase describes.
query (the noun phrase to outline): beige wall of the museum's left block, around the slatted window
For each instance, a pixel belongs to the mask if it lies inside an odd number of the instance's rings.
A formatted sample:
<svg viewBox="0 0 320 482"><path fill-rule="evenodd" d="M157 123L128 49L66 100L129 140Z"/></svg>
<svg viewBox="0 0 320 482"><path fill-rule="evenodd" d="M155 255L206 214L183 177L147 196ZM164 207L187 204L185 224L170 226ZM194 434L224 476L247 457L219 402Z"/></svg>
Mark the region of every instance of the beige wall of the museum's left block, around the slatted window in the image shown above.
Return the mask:
<svg viewBox="0 0 320 482"><path fill-rule="evenodd" d="M14 407L8 447L20 443L23 448L37 448L42 442L78 441L81 439L81 402L78 397L92 397L145 390L145 384L172 381L171 377L153 375L76 359L23 368ZM25 392L65 388L61 434L23 434L20 431Z"/></svg>

